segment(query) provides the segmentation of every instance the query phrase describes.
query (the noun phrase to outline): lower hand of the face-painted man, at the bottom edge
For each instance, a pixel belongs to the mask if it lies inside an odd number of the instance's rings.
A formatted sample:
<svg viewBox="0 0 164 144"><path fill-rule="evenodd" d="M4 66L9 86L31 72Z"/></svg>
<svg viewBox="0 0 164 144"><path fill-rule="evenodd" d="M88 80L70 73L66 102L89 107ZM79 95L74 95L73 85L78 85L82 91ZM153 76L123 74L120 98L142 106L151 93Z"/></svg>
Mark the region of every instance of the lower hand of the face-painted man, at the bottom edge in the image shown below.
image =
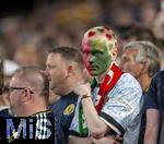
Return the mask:
<svg viewBox="0 0 164 144"><path fill-rule="evenodd" d="M108 136L102 137L99 140L93 139L93 143L94 144L120 144L119 141L121 141L121 140L122 140L122 137L108 135Z"/></svg>

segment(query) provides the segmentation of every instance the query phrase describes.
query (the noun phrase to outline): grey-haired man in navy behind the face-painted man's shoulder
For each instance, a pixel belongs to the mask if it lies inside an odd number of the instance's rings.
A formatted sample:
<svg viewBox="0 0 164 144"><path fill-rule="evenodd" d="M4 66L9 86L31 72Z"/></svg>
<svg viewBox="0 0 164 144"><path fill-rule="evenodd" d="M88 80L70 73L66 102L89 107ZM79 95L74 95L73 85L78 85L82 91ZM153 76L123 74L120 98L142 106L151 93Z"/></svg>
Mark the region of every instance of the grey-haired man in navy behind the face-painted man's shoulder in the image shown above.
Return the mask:
<svg viewBox="0 0 164 144"><path fill-rule="evenodd" d="M155 45L149 41L128 43L121 55L121 67L131 73L142 87L143 113L138 144L156 144L159 134L159 110L148 95L152 77L160 71L161 59Z"/></svg>

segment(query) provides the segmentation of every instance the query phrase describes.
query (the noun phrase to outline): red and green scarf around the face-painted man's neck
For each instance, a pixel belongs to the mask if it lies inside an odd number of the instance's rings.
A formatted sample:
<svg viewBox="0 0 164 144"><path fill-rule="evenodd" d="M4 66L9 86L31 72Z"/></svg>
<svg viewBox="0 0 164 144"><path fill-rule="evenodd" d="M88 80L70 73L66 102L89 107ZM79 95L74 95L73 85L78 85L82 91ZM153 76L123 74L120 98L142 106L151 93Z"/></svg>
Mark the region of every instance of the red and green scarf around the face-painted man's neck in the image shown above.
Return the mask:
<svg viewBox="0 0 164 144"><path fill-rule="evenodd" d="M119 67L116 63L113 63L112 68L105 75L103 83L101 84L99 89L98 89L98 98L95 104L95 109L96 109L97 113L99 113L102 111L102 108L105 104L107 93L109 93L110 89L115 86L115 84L117 83L117 81L119 80L121 74L122 74L122 71L119 69ZM96 85L97 85L97 82L94 77L91 82L92 91L96 87ZM85 127L84 122L85 122L85 120L83 117L83 110L82 110L82 106L81 106L80 110L79 110L79 130L80 130L81 136L87 135L87 128Z"/></svg>

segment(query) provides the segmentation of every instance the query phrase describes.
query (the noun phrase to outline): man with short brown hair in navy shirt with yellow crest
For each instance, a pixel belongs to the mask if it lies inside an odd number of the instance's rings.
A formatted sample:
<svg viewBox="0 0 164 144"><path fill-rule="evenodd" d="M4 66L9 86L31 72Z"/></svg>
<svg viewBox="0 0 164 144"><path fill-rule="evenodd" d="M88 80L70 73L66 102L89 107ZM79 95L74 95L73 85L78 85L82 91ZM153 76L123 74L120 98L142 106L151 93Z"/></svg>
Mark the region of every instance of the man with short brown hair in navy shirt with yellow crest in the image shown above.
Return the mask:
<svg viewBox="0 0 164 144"><path fill-rule="evenodd" d="M49 79L50 89L60 96L51 109L68 139L79 97L73 89L84 81L82 53L70 47L54 48L47 57L45 73Z"/></svg>

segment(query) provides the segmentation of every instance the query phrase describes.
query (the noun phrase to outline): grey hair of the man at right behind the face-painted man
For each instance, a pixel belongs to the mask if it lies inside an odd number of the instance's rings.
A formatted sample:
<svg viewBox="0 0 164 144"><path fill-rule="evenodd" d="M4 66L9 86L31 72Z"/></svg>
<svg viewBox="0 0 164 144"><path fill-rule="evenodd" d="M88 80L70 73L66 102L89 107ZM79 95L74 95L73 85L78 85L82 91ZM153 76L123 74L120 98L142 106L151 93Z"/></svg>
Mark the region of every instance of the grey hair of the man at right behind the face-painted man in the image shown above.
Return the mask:
<svg viewBox="0 0 164 144"><path fill-rule="evenodd" d="M124 51L129 48L138 49L136 61L149 63L149 76L152 77L157 71L160 71L161 53L160 49L154 44L150 41L131 41L125 46Z"/></svg>

